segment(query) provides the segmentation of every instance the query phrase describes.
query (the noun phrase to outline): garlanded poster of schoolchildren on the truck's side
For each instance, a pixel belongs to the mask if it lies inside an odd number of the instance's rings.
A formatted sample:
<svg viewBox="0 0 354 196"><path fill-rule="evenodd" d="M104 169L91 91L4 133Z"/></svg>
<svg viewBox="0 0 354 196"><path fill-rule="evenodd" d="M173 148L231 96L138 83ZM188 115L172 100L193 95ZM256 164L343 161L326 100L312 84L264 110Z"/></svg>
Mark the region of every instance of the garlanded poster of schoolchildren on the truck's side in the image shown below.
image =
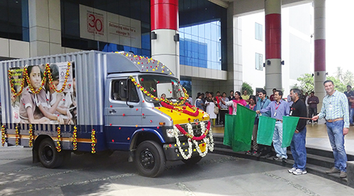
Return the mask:
<svg viewBox="0 0 354 196"><path fill-rule="evenodd" d="M13 123L76 124L74 63L10 68Z"/></svg>

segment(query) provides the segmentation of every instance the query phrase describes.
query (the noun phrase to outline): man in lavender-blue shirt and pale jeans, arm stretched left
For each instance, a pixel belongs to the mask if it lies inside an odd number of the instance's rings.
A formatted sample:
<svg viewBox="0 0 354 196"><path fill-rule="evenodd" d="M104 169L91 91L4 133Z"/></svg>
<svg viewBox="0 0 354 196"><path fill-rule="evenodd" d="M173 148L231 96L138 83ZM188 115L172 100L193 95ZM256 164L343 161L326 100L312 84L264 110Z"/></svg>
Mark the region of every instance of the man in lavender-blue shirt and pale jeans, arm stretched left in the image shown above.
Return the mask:
<svg viewBox="0 0 354 196"><path fill-rule="evenodd" d="M274 160L281 159L283 162L287 161L287 148L282 147L282 116L289 116L290 106L286 101L282 100L282 91L276 90L274 93L275 101L265 108L256 111L257 114L270 111L270 116L276 119L275 129L273 133L273 146L277 155L273 157Z"/></svg>

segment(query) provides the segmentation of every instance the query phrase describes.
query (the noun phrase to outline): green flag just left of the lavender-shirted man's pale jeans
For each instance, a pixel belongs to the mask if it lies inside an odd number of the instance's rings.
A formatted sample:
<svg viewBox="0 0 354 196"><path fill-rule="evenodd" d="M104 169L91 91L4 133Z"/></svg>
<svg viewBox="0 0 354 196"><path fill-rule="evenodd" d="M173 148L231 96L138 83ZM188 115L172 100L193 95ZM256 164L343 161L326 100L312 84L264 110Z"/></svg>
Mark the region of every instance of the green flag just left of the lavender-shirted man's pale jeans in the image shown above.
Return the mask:
<svg viewBox="0 0 354 196"><path fill-rule="evenodd" d="M275 118L259 116L257 144L267 146L272 145L275 121Z"/></svg>

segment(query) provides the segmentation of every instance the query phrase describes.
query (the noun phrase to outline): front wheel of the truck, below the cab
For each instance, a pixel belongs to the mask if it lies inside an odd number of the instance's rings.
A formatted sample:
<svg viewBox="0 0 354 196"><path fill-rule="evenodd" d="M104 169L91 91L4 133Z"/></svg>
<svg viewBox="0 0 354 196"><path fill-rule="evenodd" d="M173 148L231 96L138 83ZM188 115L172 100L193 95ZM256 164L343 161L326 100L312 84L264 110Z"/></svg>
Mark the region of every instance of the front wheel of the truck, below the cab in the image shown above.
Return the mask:
<svg viewBox="0 0 354 196"><path fill-rule="evenodd" d="M161 145L154 141L140 143L135 152L135 165L142 176L159 176L165 169L165 161Z"/></svg>

